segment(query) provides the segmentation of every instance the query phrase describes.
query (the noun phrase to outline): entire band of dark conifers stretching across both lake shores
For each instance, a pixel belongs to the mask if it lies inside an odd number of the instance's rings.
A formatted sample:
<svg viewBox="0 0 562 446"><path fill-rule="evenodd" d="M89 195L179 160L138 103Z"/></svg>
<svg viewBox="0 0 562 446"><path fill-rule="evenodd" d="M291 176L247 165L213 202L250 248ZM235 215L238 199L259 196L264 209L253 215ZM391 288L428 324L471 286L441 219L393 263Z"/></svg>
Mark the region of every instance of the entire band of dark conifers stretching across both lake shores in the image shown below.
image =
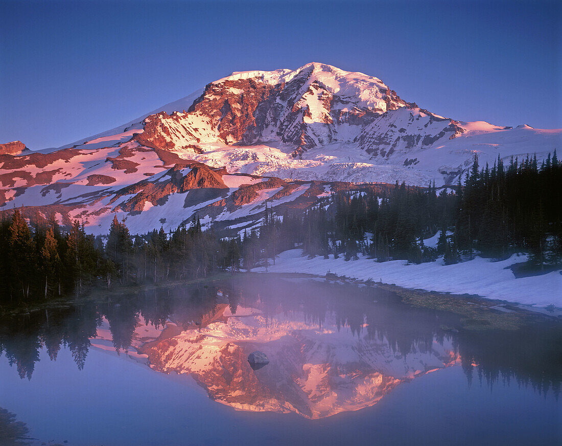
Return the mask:
<svg viewBox="0 0 562 446"><path fill-rule="evenodd" d="M0 220L1 301L52 298L90 286L163 282L206 277L219 270L267 267L280 252L302 247L309 256L359 254L378 262L456 263L480 254L506 258L529 253L535 268L562 261L562 165L556 151L538 165L536 156L498 157L492 167L474 157L464 182L442 188L404 183L388 188L333 193L302 212L268 208L258 226L234 237L203 231L200 220L174 231L132 236L115 216L106 237L89 235L74 220L62 231L56 219L28 224L19 210ZM438 233L436 246L424 240ZM268 260L272 259L272 260Z"/></svg>

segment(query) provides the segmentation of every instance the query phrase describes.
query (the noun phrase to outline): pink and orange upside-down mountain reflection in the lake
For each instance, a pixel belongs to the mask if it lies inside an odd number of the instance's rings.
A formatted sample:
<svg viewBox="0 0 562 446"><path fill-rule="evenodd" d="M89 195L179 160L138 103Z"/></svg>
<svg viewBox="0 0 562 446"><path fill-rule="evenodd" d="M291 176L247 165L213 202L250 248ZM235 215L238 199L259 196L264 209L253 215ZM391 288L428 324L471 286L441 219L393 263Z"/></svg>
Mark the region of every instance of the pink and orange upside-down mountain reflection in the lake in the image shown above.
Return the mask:
<svg viewBox="0 0 562 446"><path fill-rule="evenodd" d="M414 341L401 354L383 334L338 326L334 314L322 325L298 310L279 309L268 318L238 306L237 316L231 314L219 305L201 330L183 331L142 351L156 370L191 373L221 403L310 418L372 406L400 382L459 360L450 339ZM258 371L247 360L256 349L270 361Z"/></svg>

